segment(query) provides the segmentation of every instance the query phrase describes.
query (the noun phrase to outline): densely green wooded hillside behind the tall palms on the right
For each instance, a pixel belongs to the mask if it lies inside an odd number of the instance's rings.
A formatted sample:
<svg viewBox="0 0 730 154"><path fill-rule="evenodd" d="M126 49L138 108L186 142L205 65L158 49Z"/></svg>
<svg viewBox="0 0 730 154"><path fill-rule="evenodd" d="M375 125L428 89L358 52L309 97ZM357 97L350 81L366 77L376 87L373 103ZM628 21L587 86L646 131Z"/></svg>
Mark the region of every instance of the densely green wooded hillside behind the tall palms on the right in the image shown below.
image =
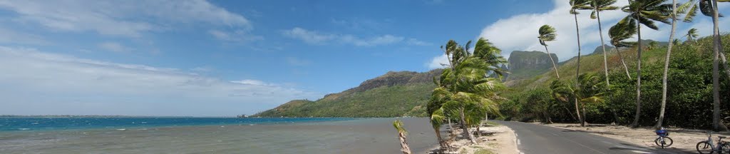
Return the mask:
<svg viewBox="0 0 730 154"><path fill-rule="evenodd" d="M730 36L723 35L724 52L730 51ZM585 118L588 123L629 124L636 109L636 47L621 47L631 79L616 50L607 50L610 91L601 102L586 103ZM661 78L664 70L666 44L645 47L642 53L642 118L640 126L656 123L661 102ZM666 102L666 126L685 128L710 128L712 124L712 36L696 42L680 42L674 46L668 74L668 98ZM558 66L560 81L575 85L576 58ZM721 69L724 70L723 66ZM580 74L594 73L604 80L603 55L585 55L580 61ZM720 73L721 117L729 117L729 78ZM541 120L575 122L575 104L572 100L556 100L557 91L550 87L556 80L553 70L526 80L514 82L512 91L505 93L509 101L500 104L500 112L507 120ZM581 111L583 112L583 111Z"/></svg>

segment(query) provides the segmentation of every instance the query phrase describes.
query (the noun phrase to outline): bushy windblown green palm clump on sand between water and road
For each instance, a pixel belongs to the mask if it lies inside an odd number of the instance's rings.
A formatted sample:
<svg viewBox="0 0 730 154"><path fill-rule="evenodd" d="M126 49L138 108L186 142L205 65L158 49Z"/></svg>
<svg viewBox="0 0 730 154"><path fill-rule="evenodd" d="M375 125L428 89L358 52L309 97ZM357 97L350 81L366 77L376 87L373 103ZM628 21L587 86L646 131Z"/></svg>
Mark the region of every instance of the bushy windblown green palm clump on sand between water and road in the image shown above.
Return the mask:
<svg viewBox="0 0 730 154"><path fill-rule="evenodd" d="M468 51L470 42L465 46L458 45L453 40L447 42L445 53L449 58L450 69L442 72L436 81L439 87L431 94L431 101L441 104L440 108L456 111L456 114L449 115L458 115L464 136L472 143L476 141L469 131L469 124L477 122L472 115L475 111L480 111L475 108L485 108L480 112L490 110L487 108L496 111L494 103L500 99L496 92L505 88L499 79L488 77L487 74L499 73L499 64L506 60L499 56L499 49L491 46L486 39L480 40L483 41L477 42L478 50L474 54ZM481 117L477 116L476 119Z"/></svg>

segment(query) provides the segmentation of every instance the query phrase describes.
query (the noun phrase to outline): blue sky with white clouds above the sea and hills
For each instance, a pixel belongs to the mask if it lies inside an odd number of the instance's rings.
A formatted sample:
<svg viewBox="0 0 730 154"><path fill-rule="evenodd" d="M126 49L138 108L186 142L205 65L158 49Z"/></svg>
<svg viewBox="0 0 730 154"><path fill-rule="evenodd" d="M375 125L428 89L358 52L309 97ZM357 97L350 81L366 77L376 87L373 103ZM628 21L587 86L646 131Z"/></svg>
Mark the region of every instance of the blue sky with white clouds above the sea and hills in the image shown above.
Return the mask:
<svg viewBox="0 0 730 154"><path fill-rule="evenodd" d="M0 115L251 115L389 71L440 68L449 39L484 37L505 57L542 51L544 24L556 27L550 50L564 61L577 55L568 8L567 0L0 0ZM578 16L585 54L600 45L589 14ZM604 33L625 16L601 15ZM666 41L670 26L659 27L642 38ZM698 17L677 36L711 27Z"/></svg>

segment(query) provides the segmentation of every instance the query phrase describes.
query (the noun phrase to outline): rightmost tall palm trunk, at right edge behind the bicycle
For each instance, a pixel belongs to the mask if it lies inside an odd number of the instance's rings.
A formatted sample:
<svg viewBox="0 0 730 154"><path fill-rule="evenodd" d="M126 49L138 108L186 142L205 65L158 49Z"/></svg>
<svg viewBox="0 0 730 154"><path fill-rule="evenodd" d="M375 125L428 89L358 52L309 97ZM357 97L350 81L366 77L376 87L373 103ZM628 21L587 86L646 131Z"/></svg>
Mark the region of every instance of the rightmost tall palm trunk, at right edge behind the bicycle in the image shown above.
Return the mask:
<svg viewBox="0 0 730 154"><path fill-rule="evenodd" d="M719 73L719 60L720 60L720 31L718 26L718 0L712 0L712 37L715 40L715 45L712 47L712 130L714 131L727 131L726 126L720 119L720 73Z"/></svg>

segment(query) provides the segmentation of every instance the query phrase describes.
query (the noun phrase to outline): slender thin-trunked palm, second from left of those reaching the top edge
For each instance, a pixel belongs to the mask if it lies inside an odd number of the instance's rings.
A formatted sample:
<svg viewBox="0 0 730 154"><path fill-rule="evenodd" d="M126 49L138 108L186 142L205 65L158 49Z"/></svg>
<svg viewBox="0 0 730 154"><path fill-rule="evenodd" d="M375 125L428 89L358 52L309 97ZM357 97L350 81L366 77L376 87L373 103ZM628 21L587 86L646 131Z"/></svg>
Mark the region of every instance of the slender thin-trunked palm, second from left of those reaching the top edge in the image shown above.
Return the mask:
<svg viewBox="0 0 730 154"><path fill-rule="evenodd" d="M615 3L616 0L591 0L591 9L593 10L593 12L591 12L591 19L598 19L598 34L599 36L601 36L601 48L603 49L603 69L606 73L606 85L610 85L610 82L608 81L608 59L606 55L606 44L603 41L603 28L601 26L601 11L618 9L618 7L611 6Z"/></svg>

